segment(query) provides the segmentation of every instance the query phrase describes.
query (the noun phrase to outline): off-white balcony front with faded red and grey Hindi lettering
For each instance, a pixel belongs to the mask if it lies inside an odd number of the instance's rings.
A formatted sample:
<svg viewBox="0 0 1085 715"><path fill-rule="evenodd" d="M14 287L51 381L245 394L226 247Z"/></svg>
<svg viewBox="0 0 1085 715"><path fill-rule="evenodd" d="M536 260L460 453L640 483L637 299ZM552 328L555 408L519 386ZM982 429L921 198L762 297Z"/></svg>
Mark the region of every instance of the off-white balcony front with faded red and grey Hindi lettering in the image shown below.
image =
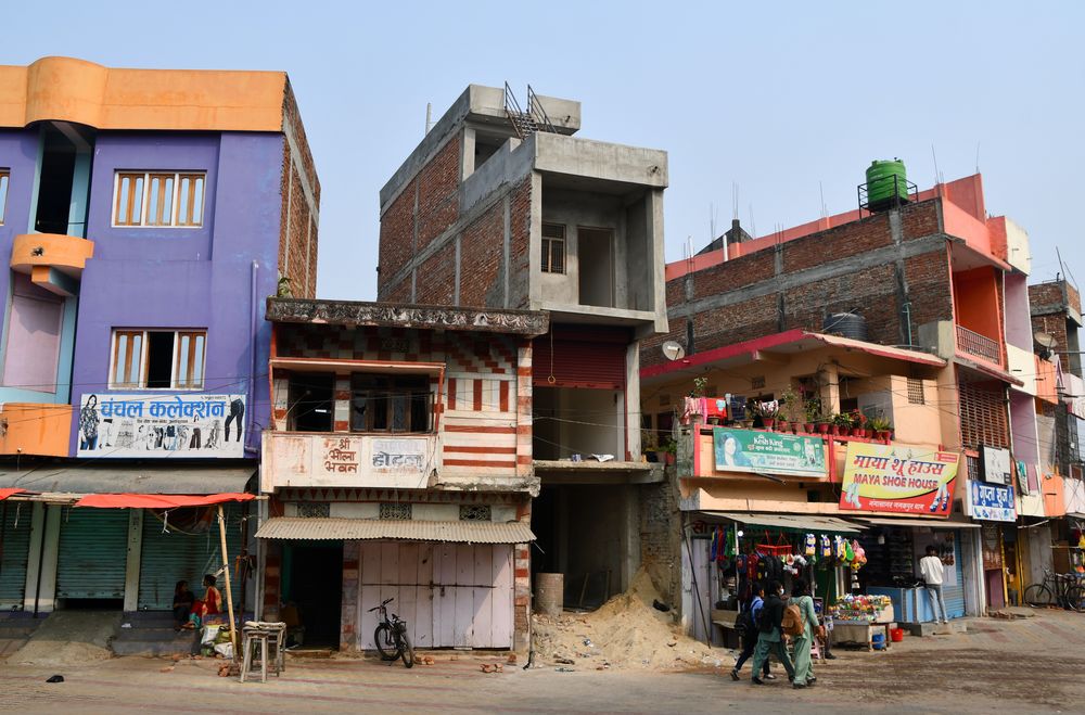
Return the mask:
<svg viewBox="0 0 1085 715"><path fill-rule="evenodd" d="M441 469L436 434L264 433L260 490L281 487L424 489Z"/></svg>

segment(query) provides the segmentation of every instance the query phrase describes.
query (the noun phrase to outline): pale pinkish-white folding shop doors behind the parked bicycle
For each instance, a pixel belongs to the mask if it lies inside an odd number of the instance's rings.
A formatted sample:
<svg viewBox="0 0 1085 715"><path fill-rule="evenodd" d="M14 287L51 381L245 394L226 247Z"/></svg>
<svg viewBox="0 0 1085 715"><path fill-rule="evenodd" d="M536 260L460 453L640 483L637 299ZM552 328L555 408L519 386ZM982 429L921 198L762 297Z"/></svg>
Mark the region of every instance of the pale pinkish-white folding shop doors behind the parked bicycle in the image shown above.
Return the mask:
<svg viewBox="0 0 1085 715"><path fill-rule="evenodd" d="M512 647L511 546L367 541L359 566L359 648L374 648L368 610L386 598L417 648Z"/></svg>

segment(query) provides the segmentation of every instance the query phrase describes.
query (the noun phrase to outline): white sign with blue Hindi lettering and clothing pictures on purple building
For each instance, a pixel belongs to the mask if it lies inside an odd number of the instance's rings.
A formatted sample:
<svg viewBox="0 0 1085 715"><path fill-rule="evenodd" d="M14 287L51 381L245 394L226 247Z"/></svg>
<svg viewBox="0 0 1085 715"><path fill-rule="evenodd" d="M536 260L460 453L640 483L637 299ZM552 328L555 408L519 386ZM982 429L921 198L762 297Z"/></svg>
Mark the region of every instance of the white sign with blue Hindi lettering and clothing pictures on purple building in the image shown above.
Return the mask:
<svg viewBox="0 0 1085 715"><path fill-rule="evenodd" d="M76 456L242 458L246 427L244 395L88 394Z"/></svg>

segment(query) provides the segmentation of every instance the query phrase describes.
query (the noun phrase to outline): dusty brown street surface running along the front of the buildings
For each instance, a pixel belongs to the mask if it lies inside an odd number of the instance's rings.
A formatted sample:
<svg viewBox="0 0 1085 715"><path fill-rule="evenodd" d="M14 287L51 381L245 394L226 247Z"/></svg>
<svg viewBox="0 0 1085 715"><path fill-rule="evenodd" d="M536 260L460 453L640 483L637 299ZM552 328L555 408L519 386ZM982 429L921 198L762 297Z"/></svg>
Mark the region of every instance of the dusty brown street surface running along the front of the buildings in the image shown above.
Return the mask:
<svg viewBox="0 0 1085 715"><path fill-rule="evenodd" d="M374 660L291 661L267 684L215 675L217 662L113 659L85 667L0 664L0 711L50 713L1071 713L1085 712L1085 615L1038 612L1017 621L972 620L969 634L906 638L889 652L839 649L817 666L818 685L793 690L733 682L727 671L524 672L482 663L503 656L442 651L433 666ZM730 666L731 657L720 651ZM565 666L573 667L576 666ZM782 675L782 671L778 671ZM65 682L50 685L50 675Z"/></svg>

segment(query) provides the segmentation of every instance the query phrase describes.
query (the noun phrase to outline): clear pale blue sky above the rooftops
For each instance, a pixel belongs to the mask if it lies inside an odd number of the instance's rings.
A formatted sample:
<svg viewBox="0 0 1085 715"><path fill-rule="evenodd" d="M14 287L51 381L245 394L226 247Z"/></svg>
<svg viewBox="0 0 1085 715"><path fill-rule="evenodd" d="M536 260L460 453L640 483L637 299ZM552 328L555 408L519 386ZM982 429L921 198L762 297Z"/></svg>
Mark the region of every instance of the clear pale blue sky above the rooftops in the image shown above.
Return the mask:
<svg viewBox="0 0 1085 715"><path fill-rule="evenodd" d="M8 3L0 63L282 69L322 197L317 293L373 299L378 193L469 84L582 102L579 136L668 152L667 260L856 207L871 159L984 177L1032 281L1085 280L1085 3ZM1076 282L1076 280L1074 280Z"/></svg>

